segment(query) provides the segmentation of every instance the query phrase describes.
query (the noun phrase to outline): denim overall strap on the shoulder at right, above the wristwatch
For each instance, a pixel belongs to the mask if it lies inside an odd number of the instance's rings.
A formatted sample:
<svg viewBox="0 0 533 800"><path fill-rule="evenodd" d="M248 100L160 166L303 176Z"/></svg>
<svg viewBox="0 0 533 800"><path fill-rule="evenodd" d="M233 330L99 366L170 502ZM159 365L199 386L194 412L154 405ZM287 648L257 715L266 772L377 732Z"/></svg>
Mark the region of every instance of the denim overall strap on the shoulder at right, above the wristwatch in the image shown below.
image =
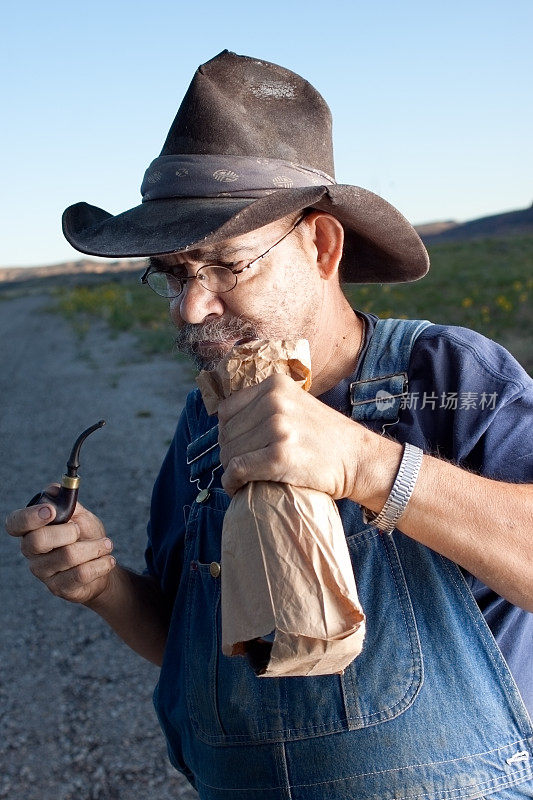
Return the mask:
<svg viewBox="0 0 533 800"><path fill-rule="evenodd" d="M431 322L419 319L380 319L359 368L350 384L352 419L398 419L402 398L408 392L407 368L413 344Z"/></svg>

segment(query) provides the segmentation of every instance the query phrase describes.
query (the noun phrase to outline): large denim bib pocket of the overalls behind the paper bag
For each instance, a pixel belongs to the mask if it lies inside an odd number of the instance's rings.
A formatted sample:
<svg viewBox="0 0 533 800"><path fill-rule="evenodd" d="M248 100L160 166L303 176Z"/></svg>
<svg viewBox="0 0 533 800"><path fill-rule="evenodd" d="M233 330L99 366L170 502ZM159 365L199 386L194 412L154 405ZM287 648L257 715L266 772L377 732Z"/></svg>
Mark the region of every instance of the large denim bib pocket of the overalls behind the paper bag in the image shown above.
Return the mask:
<svg viewBox="0 0 533 800"><path fill-rule="evenodd" d="M210 744L289 741L401 714L422 684L422 659L392 538L367 527L348 539L368 636L344 675L258 678L245 658L221 650L220 578L212 566L220 555L226 505L219 492L193 509L189 520L195 557L186 599L186 689L199 738Z"/></svg>

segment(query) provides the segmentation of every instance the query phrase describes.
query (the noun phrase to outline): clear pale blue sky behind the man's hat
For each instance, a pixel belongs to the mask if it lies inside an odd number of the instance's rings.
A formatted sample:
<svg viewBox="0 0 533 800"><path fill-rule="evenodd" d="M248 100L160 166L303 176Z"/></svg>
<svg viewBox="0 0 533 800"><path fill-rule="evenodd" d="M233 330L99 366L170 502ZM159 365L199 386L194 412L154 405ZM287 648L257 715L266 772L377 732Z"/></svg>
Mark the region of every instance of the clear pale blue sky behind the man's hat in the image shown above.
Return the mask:
<svg viewBox="0 0 533 800"><path fill-rule="evenodd" d="M337 180L413 223L533 200L531 0L4 4L0 266L81 257L79 200L137 205L196 67L224 48L324 95Z"/></svg>

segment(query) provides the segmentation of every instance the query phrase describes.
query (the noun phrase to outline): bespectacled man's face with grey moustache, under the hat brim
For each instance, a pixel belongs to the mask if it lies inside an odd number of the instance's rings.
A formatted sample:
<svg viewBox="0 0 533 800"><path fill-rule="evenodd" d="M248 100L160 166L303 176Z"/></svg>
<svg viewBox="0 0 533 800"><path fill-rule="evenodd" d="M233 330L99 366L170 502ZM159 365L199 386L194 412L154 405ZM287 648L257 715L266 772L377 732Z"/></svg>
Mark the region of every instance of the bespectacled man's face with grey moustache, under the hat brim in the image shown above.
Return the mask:
<svg viewBox="0 0 533 800"><path fill-rule="evenodd" d="M287 217L212 249L161 256L154 263L159 268L181 269L181 274L187 275L195 275L205 264L240 270L268 250L294 222L293 216ZM170 301L170 314L178 329L176 345L198 369L213 369L243 338L305 338L313 348L322 285L313 250L306 245L305 220L300 229L238 275L231 291L216 294L193 280Z"/></svg>

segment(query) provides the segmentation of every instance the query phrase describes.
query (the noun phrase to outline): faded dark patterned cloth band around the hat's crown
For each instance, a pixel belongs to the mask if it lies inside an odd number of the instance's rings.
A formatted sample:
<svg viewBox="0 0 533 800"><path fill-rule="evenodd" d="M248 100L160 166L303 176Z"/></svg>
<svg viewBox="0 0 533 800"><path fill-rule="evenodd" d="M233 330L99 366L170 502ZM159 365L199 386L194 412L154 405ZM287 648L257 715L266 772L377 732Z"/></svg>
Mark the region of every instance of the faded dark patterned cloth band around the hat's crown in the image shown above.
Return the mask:
<svg viewBox="0 0 533 800"><path fill-rule="evenodd" d="M143 203L170 197L239 197L304 186L329 186L335 180L292 161L250 156L159 156L144 174Z"/></svg>

